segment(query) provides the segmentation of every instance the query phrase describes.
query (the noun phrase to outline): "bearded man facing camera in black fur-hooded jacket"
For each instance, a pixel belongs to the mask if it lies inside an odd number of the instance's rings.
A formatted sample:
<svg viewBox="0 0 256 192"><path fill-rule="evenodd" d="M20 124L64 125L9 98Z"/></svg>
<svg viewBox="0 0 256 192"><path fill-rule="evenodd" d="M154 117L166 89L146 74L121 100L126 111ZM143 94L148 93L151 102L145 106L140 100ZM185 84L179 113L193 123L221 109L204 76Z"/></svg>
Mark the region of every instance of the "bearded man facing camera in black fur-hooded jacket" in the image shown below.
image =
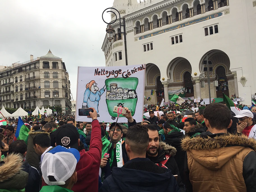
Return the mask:
<svg viewBox="0 0 256 192"><path fill-rule="evenodd" d="M175 147L167 145L164 142L159 143L159 134L154 125L146 125L149 136L149 148L146 153L146 157L156 163L158 166L168 168L172 171L173 175L178 175L177 183L180 187L180 191L184 191L184 184L180 178L178 165L174 159L177 152Z"/></svg>

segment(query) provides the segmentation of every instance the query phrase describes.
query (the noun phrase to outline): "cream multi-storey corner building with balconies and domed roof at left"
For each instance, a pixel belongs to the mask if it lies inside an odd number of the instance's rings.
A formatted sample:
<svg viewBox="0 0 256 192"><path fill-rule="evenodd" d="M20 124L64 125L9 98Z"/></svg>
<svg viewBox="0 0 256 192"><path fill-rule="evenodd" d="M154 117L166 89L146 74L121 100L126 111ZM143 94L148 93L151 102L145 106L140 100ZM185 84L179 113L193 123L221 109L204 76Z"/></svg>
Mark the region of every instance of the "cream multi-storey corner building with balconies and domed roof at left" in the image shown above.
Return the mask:
<svg viewBox="0 0 256 192"><path fill-rule="evenodd" d="M59 92L53 92L58 87ZM53 97L54 93L54 97ZM65 63L49 52L40 58L0 69L0 108L61 106L69 114L70 81Z"/></svg>

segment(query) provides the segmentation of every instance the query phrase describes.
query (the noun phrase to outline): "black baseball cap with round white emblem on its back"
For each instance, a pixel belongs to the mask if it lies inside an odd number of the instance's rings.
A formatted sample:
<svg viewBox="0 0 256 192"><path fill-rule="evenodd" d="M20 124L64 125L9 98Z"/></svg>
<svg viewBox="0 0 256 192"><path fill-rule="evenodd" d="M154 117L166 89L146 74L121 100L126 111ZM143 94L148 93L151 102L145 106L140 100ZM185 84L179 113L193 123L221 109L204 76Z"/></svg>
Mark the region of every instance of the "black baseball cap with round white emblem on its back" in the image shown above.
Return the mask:
<svg viewBox="0 0 256 192"><path fill-rule="evenodd" d="M75 148L78 150L79 133L76 127L72 124L62 125L56 130L56 145L61 145L65 148Z"/></svg>

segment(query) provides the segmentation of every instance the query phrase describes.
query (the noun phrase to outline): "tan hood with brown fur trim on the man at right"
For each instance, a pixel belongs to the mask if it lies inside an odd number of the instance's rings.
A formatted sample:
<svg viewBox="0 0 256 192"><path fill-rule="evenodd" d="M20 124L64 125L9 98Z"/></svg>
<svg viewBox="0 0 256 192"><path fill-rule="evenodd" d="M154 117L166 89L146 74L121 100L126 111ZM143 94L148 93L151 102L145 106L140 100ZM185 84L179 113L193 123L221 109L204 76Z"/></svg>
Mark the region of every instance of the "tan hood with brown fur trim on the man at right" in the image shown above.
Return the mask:
<svg viewBox="0 0 256 192"><path fill-rule="evenodd" d="M201 165L210 170L218 170L244 148L251 148L256 152L256 140L245 135L206 132L204 136L184 138L181 147Z"/></svg>

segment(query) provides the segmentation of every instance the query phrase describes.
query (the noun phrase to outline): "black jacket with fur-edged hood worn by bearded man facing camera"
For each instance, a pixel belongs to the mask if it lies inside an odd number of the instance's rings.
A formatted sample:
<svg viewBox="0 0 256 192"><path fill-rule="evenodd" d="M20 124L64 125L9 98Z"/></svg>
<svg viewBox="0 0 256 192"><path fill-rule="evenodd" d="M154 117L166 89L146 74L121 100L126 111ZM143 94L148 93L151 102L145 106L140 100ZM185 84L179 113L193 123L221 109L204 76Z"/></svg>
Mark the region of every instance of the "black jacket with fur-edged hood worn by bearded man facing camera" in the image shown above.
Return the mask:
<svg viewBox="0 0 256 192"><path fill-rule="evenodd" d="M164 166L166 166L168 169L170 169L172 171L173 175L178 175L177 183L180 187L180 191L185 192L185 186L182 183L182 180L180 178L179 168L174 159L176 152L177 152L177 150L174 147L167 145L164 142L160 142L157 156L149 157L146 154L146 157L148 159L150 159L151 161L153 161L154 163L157 163L159 166L161 166L163 161L166 161L166 155L169 155L170 157L169 157L168 161L164 164Z"/></svg>

